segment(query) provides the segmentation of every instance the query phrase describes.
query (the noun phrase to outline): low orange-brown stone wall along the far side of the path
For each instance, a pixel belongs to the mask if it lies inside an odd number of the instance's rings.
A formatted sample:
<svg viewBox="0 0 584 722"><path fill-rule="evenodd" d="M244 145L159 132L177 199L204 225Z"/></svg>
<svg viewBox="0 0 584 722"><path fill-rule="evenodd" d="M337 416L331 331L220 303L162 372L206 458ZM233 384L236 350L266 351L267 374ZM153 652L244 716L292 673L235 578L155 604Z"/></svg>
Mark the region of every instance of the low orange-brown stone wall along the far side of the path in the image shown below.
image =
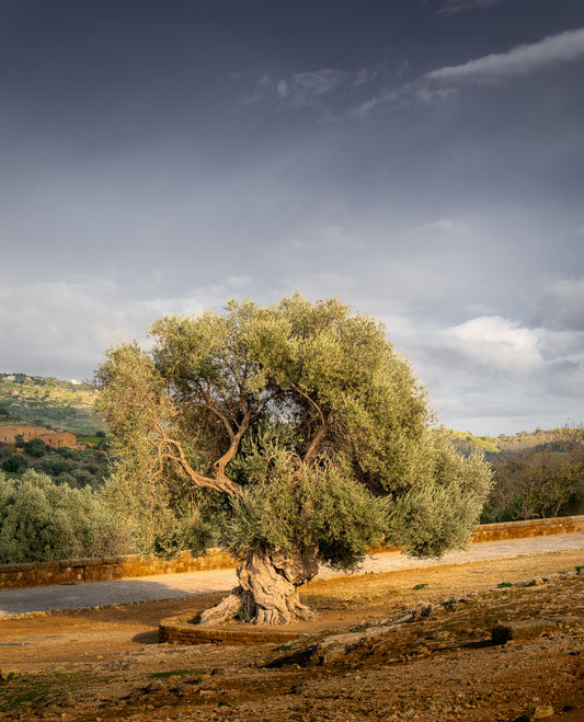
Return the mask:
<svg viewBox="0 0 584 722"><path fill-rule="evenodd" d="M584 532L584 516L483 524L474 529L469 541L477 543L576 532ZM373 551L379 553L391 551L391 549L379 547ZM238 563L227 552L220 549L209 549L203 557L192 557L190 552L182 552L176 559L170 560L144 559L138 554L129 554L106 559L69 559L36 564L2 564L0 565L0 589L231 569Z"/></svg>

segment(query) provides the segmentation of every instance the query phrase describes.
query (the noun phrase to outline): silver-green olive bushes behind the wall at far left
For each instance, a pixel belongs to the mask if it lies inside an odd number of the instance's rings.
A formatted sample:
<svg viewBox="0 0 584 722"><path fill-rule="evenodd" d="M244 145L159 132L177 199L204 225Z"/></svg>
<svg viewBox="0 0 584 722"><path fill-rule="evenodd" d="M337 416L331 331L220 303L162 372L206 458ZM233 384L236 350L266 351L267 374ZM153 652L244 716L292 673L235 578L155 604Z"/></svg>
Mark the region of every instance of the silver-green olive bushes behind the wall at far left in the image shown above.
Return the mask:
<svg viewBox="0 0 584 722"><path fill-rule="evenodd" d="M0 473L0 563L112 554L124 545L123 532L90 489L55 484L32 470L22 479Z"/></svg>

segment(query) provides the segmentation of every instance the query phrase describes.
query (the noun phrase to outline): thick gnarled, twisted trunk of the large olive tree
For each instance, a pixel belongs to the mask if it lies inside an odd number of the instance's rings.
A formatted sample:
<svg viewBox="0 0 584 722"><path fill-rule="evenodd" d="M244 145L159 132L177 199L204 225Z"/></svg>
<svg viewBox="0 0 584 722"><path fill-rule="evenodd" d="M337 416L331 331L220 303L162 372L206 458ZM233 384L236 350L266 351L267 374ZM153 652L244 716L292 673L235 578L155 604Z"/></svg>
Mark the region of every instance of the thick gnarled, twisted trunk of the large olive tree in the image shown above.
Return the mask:
<svg viewBox="0 0 584 722"><path fill-rule="evenodd" d="M297 587L319 570L316 547L294 555L262 546L238 566L239 586L201 615L201 624L220 624L238 615L255 624L288 624L318 619L298 596Z"/></svg>

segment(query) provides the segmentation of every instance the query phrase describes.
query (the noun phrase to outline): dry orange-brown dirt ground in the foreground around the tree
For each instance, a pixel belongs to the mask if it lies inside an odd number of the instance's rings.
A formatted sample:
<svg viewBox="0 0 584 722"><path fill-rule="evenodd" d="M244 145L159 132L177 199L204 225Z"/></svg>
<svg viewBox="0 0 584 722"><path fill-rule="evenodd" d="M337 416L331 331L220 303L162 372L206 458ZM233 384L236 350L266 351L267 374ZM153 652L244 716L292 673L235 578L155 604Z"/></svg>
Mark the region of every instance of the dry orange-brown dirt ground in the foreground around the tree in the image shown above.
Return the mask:
<svg viewBox="0 0 584 722"><path fill-rule="evenodd" d="M0 620L0 719L583 721L581 565L576 550L313 582L322 621L279 646L157 642L161 618L220 595ZM497 622L535 635L494 644Z"/></svg>

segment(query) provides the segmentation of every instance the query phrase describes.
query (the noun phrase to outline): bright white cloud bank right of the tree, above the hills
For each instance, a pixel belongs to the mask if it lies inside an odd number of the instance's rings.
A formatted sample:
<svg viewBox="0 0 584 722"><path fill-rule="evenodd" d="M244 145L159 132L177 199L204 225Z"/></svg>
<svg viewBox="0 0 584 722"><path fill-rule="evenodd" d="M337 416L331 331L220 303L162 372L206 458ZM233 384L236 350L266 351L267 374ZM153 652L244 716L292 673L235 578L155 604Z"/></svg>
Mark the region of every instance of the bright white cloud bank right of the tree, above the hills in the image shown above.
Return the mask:
<svg viewBox="0 0 584 722"><path fill-rule="evenodd" d="M450 427L496 435L582 421L584 333L483 316L446 329L402 324L391 335Z"/></svg>

